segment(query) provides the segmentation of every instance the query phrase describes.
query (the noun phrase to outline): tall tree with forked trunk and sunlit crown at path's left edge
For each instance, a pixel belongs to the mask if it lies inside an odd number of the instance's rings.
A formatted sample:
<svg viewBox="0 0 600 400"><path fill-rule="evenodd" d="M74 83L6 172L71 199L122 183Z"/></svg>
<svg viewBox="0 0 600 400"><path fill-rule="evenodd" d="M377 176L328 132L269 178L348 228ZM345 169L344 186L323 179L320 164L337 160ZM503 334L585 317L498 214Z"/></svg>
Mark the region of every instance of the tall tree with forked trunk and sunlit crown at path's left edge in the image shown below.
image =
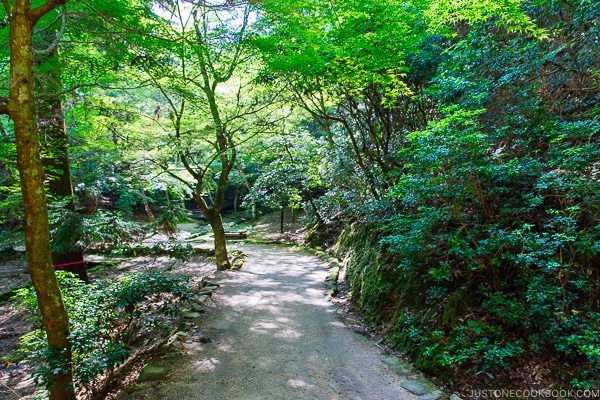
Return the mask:
<svg viewBox="0 0 600 400"><path fill-rule="evenodd" d="M218 270L231 267L221 212L239 146L282 117L271 107L278 93L252 80L250 17L248 4L175 2L160 47L134 60L166 102L155 110L167 143L154 161L192 190L213 230Z"/></svg>

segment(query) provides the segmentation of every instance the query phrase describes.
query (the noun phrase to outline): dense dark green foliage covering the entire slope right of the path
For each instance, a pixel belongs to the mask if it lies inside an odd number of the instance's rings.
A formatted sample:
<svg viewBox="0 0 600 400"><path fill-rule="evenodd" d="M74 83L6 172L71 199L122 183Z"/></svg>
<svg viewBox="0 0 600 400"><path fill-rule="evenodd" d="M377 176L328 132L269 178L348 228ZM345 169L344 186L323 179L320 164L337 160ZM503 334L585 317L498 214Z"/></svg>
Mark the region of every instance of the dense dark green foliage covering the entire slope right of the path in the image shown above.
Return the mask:
<svg viewBox="0 0 600 400"><path fill-rule="evenodd" d="M393 169L371 175L385 195L359 195L368 153L328 153L329 177L346 181L324 198L383 228L370 262L349 259L353 300L447 379L503 379L551 355L573 374L565 384L600 381L598 6L576 3L435 2L456 31L415 92L430 120L395 131ZM536 26L552 36L532 40Z"/></svg>

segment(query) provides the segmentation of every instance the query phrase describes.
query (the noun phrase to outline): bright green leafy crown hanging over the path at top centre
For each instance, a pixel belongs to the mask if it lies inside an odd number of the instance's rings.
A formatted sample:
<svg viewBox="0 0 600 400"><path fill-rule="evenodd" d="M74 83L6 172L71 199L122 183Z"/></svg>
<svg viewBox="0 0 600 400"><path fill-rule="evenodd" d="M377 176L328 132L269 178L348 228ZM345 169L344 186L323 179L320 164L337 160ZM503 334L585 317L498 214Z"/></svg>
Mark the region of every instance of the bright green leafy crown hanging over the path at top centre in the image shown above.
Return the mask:
<svg viewBox="0 0 600 400"><path fill-rule="evenodd" d="M325 79L357 94L371 85L381 85L391 98L406 90L401 77L404 56L415 45L415 9L389 0L335 6L274 0L260 7L268 35L258 44L271 67L303 76L307 80L297 83L307 89Z"/></svg>

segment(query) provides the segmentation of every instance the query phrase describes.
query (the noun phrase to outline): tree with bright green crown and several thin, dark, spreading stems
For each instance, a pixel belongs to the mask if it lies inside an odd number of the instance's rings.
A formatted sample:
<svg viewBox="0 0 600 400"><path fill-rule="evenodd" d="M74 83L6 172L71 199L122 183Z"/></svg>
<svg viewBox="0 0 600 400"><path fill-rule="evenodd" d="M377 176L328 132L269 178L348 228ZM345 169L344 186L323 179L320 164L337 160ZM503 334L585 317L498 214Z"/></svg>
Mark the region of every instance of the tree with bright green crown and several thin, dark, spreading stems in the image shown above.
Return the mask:
<svg viewBox="0 0 600 400"><path fill-rule="evenodd" d="M415 96L427 67L407 76L407 59L425 38L422 13L396 0L269 0L261 8L264 35L257 43L270 70L331 147L352 155L350 174L361 176L353 184L357 194L380 199L402 136L431 118L431 104Z"/></svg>

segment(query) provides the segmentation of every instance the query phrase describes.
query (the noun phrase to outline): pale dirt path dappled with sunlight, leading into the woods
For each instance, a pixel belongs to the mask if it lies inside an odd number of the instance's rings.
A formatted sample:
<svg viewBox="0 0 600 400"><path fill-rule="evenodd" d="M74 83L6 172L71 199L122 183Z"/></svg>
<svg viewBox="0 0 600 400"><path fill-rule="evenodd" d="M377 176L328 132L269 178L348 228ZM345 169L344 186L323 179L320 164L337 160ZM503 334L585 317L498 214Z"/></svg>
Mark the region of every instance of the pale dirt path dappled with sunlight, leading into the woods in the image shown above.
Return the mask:
<svg viewBox="0 0 600 400"><path fill-rule="evenodd" d="M181 337L166 378L127 399L416 399L372 343L324 296L325 265L297 248L238 245L240 271L218 272L213 307ZM195 329L195 331L194 331ZM210 342L207 342L210 338ZM163 364L166 361L163 361Z"/></svg>

